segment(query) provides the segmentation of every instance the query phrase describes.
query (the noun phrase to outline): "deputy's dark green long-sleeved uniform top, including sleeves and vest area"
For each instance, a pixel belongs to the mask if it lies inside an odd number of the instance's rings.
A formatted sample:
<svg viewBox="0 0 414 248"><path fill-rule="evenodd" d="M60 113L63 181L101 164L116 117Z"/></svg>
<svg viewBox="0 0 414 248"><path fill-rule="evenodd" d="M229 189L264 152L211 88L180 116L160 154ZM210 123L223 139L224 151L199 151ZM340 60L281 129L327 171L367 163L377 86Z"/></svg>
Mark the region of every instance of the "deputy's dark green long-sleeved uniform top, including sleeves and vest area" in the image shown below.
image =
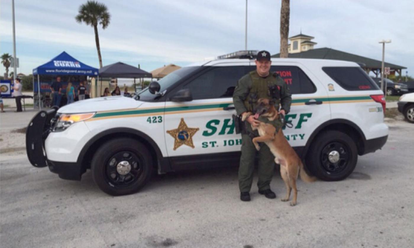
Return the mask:
<svg viewBox="0 0 414 248"><path fill-rule="evenodd" d="M278 91L276 95L271 95L270 86L275 86L276 91ZM256 95L256 98L252 98L252 93ZM276 109L279 110L280 104L281 109L285 110L286 114L289 112L292 103L289 87L275 72L269 73L266 77L261 77L256 71L253 71L238 80L233 93L233 103L238 115L252 111L260 98L274 100Z"/></svg>

